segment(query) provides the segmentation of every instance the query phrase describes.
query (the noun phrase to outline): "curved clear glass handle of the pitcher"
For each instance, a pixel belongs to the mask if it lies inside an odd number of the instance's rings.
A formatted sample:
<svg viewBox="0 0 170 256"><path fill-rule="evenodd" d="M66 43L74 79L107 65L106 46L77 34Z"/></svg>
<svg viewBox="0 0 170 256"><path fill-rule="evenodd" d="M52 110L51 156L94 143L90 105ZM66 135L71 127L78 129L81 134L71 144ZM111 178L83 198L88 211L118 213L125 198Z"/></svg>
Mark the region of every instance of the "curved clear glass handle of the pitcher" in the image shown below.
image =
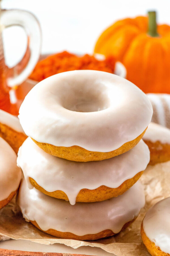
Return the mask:
<svg viewBox="0 0 170 256"><path fill-rule="evenodd" d="M4 28L22 26L27 34L27 49L30 50L26 67L14 77L7 78L7 85L14 87L22 84L33 71L41 51L41 28L37 18L28 11L12 9L1 10L1 23ZM22 62L22 61L21 61Z"/></svg>

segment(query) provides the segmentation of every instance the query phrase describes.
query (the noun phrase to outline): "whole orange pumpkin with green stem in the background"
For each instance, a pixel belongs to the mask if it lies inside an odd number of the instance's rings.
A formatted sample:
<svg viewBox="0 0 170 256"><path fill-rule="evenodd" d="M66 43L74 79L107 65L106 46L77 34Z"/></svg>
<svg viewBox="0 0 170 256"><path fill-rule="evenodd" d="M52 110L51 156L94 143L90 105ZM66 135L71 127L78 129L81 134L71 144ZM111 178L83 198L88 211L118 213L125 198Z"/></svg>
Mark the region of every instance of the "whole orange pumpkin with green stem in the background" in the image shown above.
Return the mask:
<svg viewBox="0 0 170 256"><path fill-rule="evenodd" d="M95 53L114 55L127 69L127 79L145 93L170 93L170 26L156 26L155 12L126 18L107 28Z"/></svg>

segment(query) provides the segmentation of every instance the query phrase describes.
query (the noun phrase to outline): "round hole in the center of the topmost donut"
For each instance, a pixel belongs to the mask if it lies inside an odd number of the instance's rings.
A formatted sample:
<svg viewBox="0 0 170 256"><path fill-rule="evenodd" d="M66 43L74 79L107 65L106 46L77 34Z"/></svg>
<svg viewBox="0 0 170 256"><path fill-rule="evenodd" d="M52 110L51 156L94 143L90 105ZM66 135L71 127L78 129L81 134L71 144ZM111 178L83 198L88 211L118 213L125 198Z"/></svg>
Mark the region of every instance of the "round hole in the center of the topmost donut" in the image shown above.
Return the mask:
<svg viewBox="0 0 170 256"><path fill-rule="evenodd" d="M105 86L99 85L95 89L78 86L67 92L62 105L71 111L97 112L109 108L109 102Z"/></svg>

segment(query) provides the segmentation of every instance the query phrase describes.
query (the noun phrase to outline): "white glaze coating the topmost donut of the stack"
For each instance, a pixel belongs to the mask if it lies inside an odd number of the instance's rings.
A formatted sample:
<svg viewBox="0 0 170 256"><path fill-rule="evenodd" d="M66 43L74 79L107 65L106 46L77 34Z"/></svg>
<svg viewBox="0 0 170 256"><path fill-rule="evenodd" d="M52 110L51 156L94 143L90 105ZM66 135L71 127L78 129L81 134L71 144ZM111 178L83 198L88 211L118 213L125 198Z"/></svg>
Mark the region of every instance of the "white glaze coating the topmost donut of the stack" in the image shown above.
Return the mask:
<svg viewBox="0 0 170 256"><path fill-rule="evenodd" d="M36 141L109 152L146 129L152 105L137 86L122 77L78 70L39 82L25 97L19 113L25 133Z"/></svg>

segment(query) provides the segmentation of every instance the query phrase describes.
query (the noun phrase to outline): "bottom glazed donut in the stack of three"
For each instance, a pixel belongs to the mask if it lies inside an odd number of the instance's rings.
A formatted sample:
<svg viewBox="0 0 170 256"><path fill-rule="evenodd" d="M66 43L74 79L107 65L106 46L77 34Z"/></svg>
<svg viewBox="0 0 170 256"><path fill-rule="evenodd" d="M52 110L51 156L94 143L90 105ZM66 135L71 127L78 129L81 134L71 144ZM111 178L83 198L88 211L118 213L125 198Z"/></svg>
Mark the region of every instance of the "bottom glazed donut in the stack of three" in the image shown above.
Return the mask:
<svg viewBox="0 0 170 256"><path fill-rule="evenodd" d="M22 181L17 203L23 217L53 236L77 240L95 240L112 236L135 220L145 205L139 181L123 195L102 202L69 204L29 189Z"/></svg>

